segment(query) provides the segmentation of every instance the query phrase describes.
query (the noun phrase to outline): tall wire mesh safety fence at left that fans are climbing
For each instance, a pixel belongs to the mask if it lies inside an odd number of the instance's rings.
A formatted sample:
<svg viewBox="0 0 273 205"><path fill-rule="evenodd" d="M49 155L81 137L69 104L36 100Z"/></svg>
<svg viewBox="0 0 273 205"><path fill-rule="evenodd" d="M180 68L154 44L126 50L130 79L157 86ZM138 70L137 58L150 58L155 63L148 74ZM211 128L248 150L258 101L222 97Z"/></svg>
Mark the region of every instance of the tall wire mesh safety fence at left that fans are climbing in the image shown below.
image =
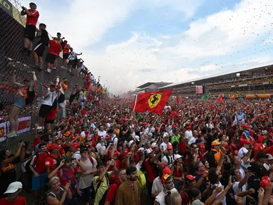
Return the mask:
<svg viewBox="0 0 273 205"><path fill-rule="evenodd" d="M21 6L17 1L0 1L0 149L11 149L14 151L20 140L33 140L32 129L38 122L39 103L42 100L45 88L40 83L49 85L56 76L67 78L72 85L76 83L83 85L83 80L76 80L76 76L71 76L66 69L60 68L63 59L58 58L58 69L51 70L51 74L43 70L37 70L30 65L34 65L34 59L21 53L24 46L24 25L26 19L20 15ZM46 22L45 22L46 23ZM34 40L34 46L38 39ZM47 49L43 53L43 68L46 68ZM16 81L23 84L24 79L31 80L31 71L36 72L37 85L36 100L21 110L19 118L19 137L4 140L4 135L9 132L8 114L14 103L14 94L17 88L11 83L11 78L16 76ZM66 98L71 93L71 86L68 85ZM58 116L61 116L59 110ZM2 141L2 142L1 142Z"/></svg>

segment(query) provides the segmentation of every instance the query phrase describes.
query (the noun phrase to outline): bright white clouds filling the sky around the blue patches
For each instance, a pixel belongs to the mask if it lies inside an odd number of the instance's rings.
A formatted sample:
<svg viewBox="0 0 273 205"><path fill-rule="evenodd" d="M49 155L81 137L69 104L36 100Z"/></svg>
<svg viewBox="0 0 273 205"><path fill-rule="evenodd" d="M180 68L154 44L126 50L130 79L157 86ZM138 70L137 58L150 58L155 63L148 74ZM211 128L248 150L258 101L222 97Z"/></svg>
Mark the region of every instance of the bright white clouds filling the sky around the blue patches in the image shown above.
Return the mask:
<svg viewBox="0 0 273 205"><path fill-rule="evenodd" d="M188 19L195 14L202 0L69 2L71 4L58 8L56 14L52 13L54 9L45 9L45 5L38 7L41 9L41 21L48 24L48 31L60 31L76 51L82 51L88 68L95 75L101 75L101 81L110 85L113 93L134 90L135 85L147 81L180 82L203 77L205 71L220 73L258 65L269 59L262 56L255 61L255 57L248 56L244 61L250 63L239 63L235 52L243 51L262 36L272 33L272 0L242 0L233 10L225 9L197 19L184 33L153 37L135 31L128 41L108 45L104 51L92 51L85 47L99 42L109 28L125 21L141 6L166 6L168 13L180 12L182 18ZM235 56L234 62L217 64L217 56L223 58L227 54ZM202 63L204 61L210 63ZM142 69L154 71L140 72Z"/></svg>

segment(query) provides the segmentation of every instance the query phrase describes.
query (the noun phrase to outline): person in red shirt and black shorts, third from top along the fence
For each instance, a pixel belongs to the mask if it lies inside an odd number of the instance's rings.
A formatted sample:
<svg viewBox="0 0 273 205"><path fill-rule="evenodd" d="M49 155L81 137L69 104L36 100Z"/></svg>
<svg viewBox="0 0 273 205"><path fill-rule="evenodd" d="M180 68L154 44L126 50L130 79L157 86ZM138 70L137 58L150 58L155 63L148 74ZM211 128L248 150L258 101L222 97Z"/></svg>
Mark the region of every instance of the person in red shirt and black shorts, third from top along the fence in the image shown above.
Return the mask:
<svg viewBox="0 0 273 205"><path fill-rule="evenodd" d="M49 49L46 55L46 72L51 73L51 68L53 68L53 64L55 63L56 56L60 54L62 51L61 43L58 42L58 38L54 37L53 40L49 41Z"/></svg>

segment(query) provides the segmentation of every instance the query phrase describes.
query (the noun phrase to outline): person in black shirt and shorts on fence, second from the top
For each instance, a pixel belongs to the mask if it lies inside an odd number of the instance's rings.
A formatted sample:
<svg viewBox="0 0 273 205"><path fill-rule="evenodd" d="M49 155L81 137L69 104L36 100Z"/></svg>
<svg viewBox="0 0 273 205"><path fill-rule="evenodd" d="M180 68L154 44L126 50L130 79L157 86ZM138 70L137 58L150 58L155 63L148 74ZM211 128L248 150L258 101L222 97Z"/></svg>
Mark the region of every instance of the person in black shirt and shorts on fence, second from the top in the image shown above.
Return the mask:
<svg viewBox="0 0 273 205"><path fill-rule="evenodd" d="M48 32L46 31L46 24L40 23L39 31L37 32L40 40L38 41L36 47L34 48L34 68L43 69L43 51L49 43Z"/></svg>

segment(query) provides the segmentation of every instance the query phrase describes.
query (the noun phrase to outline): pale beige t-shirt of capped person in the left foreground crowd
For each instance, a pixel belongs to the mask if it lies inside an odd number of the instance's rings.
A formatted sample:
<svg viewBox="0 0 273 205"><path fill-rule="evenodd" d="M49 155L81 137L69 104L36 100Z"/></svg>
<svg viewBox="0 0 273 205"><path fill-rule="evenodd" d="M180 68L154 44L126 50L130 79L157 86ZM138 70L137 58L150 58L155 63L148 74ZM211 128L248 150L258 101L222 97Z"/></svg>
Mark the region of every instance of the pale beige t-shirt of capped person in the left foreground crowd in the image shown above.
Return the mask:
<svg viewBox="0 0 273 205"><path fill-rule="evenodd" d="M91 171L93 171L93 169L95 169L97 167L98 163L97 163L96 159L93 157L92 157L92 159L93 159L93 164L89 158L86 161L83 161L82 159L80 159L81 164L86 166L86 169L87 169L86 172L91 172ZM83 175L83 174L81 174L81 175ZM85 189L86 187L91 186L93 178L94 178L94 174L80 176L80 178L78 180L78 189Z"/></svg>

